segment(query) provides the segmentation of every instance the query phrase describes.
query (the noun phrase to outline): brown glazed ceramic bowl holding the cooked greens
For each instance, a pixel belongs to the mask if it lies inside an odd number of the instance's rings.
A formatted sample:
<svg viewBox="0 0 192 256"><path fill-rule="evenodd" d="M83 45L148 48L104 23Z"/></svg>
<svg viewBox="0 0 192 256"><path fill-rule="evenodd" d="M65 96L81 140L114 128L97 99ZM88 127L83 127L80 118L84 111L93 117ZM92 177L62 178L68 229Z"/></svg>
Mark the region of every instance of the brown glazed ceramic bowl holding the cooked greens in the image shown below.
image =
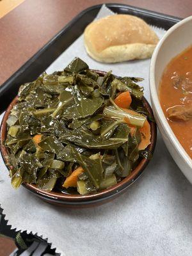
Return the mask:
<svg viewBox="0 0 192 256"><path fill-rule="evenodd" d="M97 74L104 76L106 72L102 72L99 70L95 70ZM3 157L4 163L6 164L6 167L8 170L12 168L8 161L8 150L4 146L4 141L6 140L6 132L7 132L7 125L6 125L6 120L8 119L8 116L10 115L10 111L13 108L13 105L17 102L17 97L13 99L11 104L8 106L6 109L6 112L4 113L3 120L1 123L1 133L0 133L0 149L1 149L1 155ZM152 109L150 108L150 105L148 104L147 100L143 97L143 104L145 108L148 110L151 116L153 116ZM148 145L148 150L150 152L154 152L154 148L156 146L156 137L157 137L157 128L156 124L154 122L150 122L150 128L151 128L151 144ZM34 193L35 195L39 196L40 198L44 199L45 201L51 203L51 204L56 204L56 205L61 205L65 207L91 207L93 205L100 205L104 204L116 196L120 195L123 193L138 177L140 177L141 173L143 173L143 170L147 166L149 160L147 159L141 159L140 163L136 168L132 171L132 173L125 177L122 181L118 182L115 186L112 186L108 189L104 189L100 191L97 194L93 195L86 195L86 196L81 196L81 195L67 195L64 193L58 193L58 192L47 192L42 189L39 189L36 187L35 184L27 184L24 183L22 186L24 186L26 189ZM10 189L11 186L10 186Z"/></svg>

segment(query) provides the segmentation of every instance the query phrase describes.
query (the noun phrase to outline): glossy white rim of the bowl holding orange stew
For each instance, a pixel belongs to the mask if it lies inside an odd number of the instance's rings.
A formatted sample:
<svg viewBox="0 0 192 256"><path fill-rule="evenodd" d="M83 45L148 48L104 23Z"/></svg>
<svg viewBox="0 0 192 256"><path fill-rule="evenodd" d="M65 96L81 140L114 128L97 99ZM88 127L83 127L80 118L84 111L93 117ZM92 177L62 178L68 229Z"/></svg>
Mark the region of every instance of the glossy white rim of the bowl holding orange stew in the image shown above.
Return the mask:
<svg viewBox="0 0 192 256"><path fill-rule="evenodd" d="M180 156L188 164L189 168L191 168L191 166L192 166L192 159L191 159L191 157L189 157L186 150L184 150L184 148L180 144L179 140L175 136L174 132L172 131L172 128L168 124L168 121L167 121L167 119L166 119L166 117L163 113L163 109L161 108L161 104L160 104L159 97L158 97L158 92L157 92L157 89L156 89L156 82L155 82L156 68L155 67L156 67L156 61L157 61L157 56L159 54L159 50L161 49L161 47L164 44L164 42L166 41L166 39L177 28L180 28L180 26L184 26L184 24L186 24L188 22L191 22L191 21L192 21L192 16L189 16L186 19L183 19L180 22L178 22L177 24L175 24L174 26L172 26L172 28L168 29L168 31L166 31L163 38L161 38L161 40L158 42L158 44L156 46L156 49L154 50L154 53L152 54L152 58L151 58L151 61L150 61L150 72L149 72L150 98L152 100L152 103L154 103L153 107L156 109L156 115L158 116L159 122L161 122L161 125L163 126L164 130L168 134L168 138L170 138L170 143L172 143L173 148L175 148L175 150L177 152L179 152Z"/></svg>

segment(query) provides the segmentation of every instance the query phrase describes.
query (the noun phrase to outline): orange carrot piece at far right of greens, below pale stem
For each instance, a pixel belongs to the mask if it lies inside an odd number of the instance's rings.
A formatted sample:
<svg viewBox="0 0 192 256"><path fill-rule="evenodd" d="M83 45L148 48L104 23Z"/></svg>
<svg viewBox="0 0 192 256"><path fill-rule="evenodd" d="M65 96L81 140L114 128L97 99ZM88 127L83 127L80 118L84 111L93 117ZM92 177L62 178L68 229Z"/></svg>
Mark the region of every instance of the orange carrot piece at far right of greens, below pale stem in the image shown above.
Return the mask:
<svg viewBox="0 0 192 256"><path fill-rule="evenodd" d="M143 150L147 148L147 146L151 143L150 142L150 138L151 138L150 124L148 123L147 120L145 120L143 127L140 128L140 132L141 132L141 142L138 145L138 150Z"/></svg>

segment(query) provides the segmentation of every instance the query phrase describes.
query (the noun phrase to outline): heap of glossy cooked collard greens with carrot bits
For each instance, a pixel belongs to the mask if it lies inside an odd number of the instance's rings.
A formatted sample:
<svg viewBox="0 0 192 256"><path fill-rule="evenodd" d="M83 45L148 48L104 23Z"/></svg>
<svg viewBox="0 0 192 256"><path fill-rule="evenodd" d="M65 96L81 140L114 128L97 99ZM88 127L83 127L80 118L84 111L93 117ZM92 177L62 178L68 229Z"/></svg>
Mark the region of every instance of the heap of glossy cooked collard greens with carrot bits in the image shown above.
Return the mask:
<svg viewBox="0 0 192 256"><path fill-rule="evenodd" d="M73 187L86 195L127 177L148 156L141 80L99 75L76 58L20 86L5 141L12 186L28 182L65 193ZM114 102L122 92L132 98L127 109Z"/></svg>

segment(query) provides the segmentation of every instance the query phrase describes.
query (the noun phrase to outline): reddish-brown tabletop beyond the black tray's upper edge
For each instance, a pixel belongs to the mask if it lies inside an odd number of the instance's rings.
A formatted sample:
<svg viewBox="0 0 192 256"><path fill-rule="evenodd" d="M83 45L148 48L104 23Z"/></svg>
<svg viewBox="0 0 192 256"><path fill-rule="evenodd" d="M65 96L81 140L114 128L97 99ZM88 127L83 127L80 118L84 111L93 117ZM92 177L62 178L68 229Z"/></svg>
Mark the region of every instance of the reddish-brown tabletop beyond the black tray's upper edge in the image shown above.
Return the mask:
<svg viewBox="0 0 192 256"><path fill-rule="evenodd" d="M26 0L0 19L0 84L77 13L100 3L123 3L175 17L191 15L191 0Z"/></svg>

